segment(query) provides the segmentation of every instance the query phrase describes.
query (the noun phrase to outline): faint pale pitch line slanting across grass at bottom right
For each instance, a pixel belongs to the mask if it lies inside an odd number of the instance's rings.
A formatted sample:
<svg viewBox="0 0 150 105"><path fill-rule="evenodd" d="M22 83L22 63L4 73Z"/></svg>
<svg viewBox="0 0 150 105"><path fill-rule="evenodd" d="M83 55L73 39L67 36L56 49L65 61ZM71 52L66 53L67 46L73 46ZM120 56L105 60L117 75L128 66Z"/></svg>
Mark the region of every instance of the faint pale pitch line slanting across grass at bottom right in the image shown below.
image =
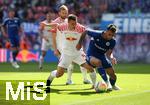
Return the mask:
<svg viewBox="0 0 150 105"><path fill-rule="evenodd" d="M85 104L88 102L93 102L93 101L102 101L102 100L106 100L106 99L111 99L111 98L117 98L117 97L127 97L127 96L134 96L134 95L138 95L138 94L143 94L143 93L147 93L150 92L150 90L145 90L142 92L136 92L136 93L128 93L128 94L123 94L123 95L116 95L116 96L110 96L108 98L96 98L94 100L87 100L87 101L78 101L78 102L73 102L73 103L68 103L68 104L63 104L63 105L78 105L78 104Z"/></svg>

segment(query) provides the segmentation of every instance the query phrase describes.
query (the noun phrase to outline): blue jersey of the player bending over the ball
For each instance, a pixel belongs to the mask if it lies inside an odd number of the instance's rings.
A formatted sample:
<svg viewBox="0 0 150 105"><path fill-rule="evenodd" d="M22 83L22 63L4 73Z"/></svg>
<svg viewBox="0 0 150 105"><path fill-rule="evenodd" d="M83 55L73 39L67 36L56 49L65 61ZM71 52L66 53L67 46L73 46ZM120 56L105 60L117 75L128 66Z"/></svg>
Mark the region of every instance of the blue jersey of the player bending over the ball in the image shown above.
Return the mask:
<svg viewBox="0 0 150 105"><path fill-rule="evenodd" d="M87 30L87 34L91 36L87 55L98 57L105 55L109 49L113 49L116 44L115 39L106 40L102 37L103 31Z"/></svg>

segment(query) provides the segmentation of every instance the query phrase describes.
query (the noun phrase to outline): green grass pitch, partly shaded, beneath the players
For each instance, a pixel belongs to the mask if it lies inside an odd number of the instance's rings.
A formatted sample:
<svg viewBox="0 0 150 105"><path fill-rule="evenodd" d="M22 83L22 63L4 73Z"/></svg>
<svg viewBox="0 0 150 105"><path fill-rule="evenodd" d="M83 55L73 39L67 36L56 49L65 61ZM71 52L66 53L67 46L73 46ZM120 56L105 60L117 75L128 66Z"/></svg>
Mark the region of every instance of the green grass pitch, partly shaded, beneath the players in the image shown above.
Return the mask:
<svg viewBox="0 0 150 105"><path fill-rule="evenodd" d="M36 101L32 94L36 93L33 83L45 82L50 71L56 68L55 63L44 64L43 71L38 70L38 63L20 63L16 70L9 63L0 63L0 105L150 105L150 64L118 64L116 69L119 85L122 90L107 93L95 93L91 85L82 83L82 74L75 66L72 76L73 85L66 86L66 74L55 79L51 93L44 101ZM88 76L89 77L89 76ZM97 74L97 80L101 78ZM19 82L25 82L25 100L6 100L6 82L11 81L14 91ZM31 100L27 100L27 82L31 82ZM29 86L30 87L30 86ZM40 87L41 88L41 87ZM42 96L37 93L37 96Z"/></svg>

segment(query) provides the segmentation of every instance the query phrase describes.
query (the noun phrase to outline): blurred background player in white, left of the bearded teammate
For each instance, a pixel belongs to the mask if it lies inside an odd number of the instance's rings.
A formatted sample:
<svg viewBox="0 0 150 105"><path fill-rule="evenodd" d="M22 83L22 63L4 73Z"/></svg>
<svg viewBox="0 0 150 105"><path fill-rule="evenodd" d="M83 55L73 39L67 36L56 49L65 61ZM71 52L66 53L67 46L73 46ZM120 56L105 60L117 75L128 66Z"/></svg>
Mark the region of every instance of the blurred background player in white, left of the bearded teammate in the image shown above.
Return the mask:
<svg viewBox="0 0 150 105"><path fill-rule="evenodd" d="M46 14L46 20L40 23L39 32L42 37L41 56L39 59L39 69L42 69L43 59L48 49L52 50L52 33L51 30L57 26L56 23L51 23L51 13Z"/></svg>

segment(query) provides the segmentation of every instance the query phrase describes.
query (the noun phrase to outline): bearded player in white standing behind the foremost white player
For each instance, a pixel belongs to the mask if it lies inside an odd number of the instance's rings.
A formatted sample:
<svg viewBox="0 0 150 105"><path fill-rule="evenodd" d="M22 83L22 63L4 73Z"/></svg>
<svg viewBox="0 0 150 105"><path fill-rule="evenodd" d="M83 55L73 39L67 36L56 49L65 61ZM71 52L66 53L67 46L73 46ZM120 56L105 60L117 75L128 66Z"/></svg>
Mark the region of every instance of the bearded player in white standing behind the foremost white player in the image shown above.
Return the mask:
<svg viewBox="0 0 150 105"><path fill-rule="evenodd" d="M67 16L68 16L68 8L67 8L67 6L62 5L59 8L59 17L56 18L53 22L58 23L58 24L67 22L67 19L66 19ZM54 36L53 37L54 54L57 57L60 57L61 52L62 52L63 38L62 38L62 35L61 35L59 30L57 30L57 34L54 34L53 36ZM82 52L82 53L84 53L84 52ZM71 63L69 65L68 69L67 69L67 82L66 82L66 85L69 85L69 84L73 83L72 80L71 80L73 68L74 68L74 64ZM80 70L81 70L82 75L83 75L83 83L84 84L90 84L91 81L89 81L87 79L87 70L85 70L83 67L80 67Z"/></svg>

